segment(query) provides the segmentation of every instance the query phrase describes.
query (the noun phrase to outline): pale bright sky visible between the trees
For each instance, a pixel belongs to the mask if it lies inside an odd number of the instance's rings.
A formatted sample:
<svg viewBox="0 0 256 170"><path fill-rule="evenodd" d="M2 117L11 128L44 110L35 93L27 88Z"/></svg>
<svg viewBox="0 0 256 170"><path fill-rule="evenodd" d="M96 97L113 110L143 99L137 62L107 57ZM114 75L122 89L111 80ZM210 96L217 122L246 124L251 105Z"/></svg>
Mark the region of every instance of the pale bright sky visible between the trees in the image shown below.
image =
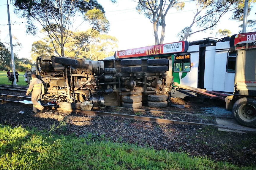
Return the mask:
<svg viewBox="0 0 256 170"><path fill-rule="evenodd" d="M118 39L118 50L131 48L139 48L144 46L154 45L153 24L144 17L143 14L136 12L137 3L132 0L118 0L118 3L113 4L110 0L98 0L105 10L105 15L110 22L110 30L108 35ZM31 45L34 41L41 39L40 34L36 36L26 34L26 19L18 18L13 12L13 6L8 0L10 9L10 23L12 37L16 37L17 41L22 44L22 47L17 50L13 49L19 58L30 58ZM165 20L165 40L164 43L179 41L177 34L180 30L190 24L193 17L193 4L185 5L182 11L176 9L169 10ZM252 7L251 14L247 19L255 19L256 5ZM229 18L231 14L225 14L217 27L214 30L208 30L205 33L196 33L188 38L188 41L201 40L208 37L216 37L215 34L219 29L228 29L231 35L237 34L241 28L238 26L242 22L232 21ZM79 22L79 21L78 21ZM80 23L79 23L80 24ZM40 28L41 29L41 28ZM86 30L85 26L78 28L80 31ZM161 30L161 27L159 27ZM10 42L8 16L7 16L7 0L0 0L0 39L1 42ZM211 33L212 32L212 33ZM219 38L219 37L217 37ZM12 38L12 42L15 43Z"/></svg>

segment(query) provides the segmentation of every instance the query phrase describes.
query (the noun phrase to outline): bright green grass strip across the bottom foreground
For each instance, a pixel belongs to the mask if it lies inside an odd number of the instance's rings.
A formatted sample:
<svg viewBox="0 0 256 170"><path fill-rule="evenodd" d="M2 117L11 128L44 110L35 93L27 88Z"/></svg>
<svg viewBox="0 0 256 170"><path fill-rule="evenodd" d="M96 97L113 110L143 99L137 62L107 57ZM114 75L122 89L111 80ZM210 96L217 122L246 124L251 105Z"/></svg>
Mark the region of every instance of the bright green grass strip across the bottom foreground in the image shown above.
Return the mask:
<svg viewBox="0 0 256 170"><path fill-rule="evenodd" d="M255 169L189 153L112 143L93 134L60 136L0 125L0 169Z"/></svg>

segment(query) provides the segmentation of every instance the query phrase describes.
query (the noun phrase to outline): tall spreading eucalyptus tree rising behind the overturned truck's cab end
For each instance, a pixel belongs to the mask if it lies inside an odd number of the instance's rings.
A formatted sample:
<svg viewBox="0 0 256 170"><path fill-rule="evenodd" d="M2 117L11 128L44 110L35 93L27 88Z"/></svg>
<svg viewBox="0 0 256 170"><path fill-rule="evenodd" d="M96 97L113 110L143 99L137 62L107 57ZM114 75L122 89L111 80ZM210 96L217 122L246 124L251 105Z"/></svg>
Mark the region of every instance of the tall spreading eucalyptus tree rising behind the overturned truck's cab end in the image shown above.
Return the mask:
<svg viewBox="0 0 256 170"><path fill-rule="evenodd" d="M65 44L81 25L89 26L90 35L109 30L105 11L97 0L15 0L14 6L15 13L27 19L26 32L36 35L36 24L40 24L49 38L45 40L50 40L59 56L65 56Z"/></svg>

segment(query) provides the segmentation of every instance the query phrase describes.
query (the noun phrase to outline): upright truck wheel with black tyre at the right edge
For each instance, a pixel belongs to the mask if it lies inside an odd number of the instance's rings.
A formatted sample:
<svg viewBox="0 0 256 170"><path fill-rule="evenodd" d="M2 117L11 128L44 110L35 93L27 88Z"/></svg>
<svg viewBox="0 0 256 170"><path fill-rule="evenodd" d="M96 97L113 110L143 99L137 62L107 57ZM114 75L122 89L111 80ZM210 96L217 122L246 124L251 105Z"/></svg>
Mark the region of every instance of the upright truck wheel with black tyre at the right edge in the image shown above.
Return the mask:
<svg viewBox="0 0 256 170"><path fill-rule="evenodd" d="M243 97L238 99L232 109L233 116L243 126L256 127L256 99Z"/></svg>

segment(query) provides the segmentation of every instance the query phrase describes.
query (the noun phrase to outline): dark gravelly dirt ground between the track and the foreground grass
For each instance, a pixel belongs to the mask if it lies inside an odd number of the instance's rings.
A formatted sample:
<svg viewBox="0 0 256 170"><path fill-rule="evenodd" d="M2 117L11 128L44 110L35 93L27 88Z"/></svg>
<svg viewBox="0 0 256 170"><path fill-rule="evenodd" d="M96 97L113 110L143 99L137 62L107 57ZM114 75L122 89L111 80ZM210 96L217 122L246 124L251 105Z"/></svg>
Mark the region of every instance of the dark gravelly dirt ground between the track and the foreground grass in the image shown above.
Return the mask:
<svg viewBox="0 0 256 170"><path fill-rule="evenodd" d="M172 98L172 104L183 105L182 111L199 113L207 107L223 107L222 103L188 101ZM168 107L171 111L181 111ZM139 146L186 152L191 156L207 156L214 161L230 162L239 166L256 163L256 134L254 132L221 132L217 127L180 124L159 124L120 117L88 116L67 111L49 110L33 113L31 105L0 103L0 124L21 125L25 128L51 130L57 134L73 134L94 140L127 142ZM24 111L20 114L20 111ZM122 110L113 109L122 113Z"/></svg>

